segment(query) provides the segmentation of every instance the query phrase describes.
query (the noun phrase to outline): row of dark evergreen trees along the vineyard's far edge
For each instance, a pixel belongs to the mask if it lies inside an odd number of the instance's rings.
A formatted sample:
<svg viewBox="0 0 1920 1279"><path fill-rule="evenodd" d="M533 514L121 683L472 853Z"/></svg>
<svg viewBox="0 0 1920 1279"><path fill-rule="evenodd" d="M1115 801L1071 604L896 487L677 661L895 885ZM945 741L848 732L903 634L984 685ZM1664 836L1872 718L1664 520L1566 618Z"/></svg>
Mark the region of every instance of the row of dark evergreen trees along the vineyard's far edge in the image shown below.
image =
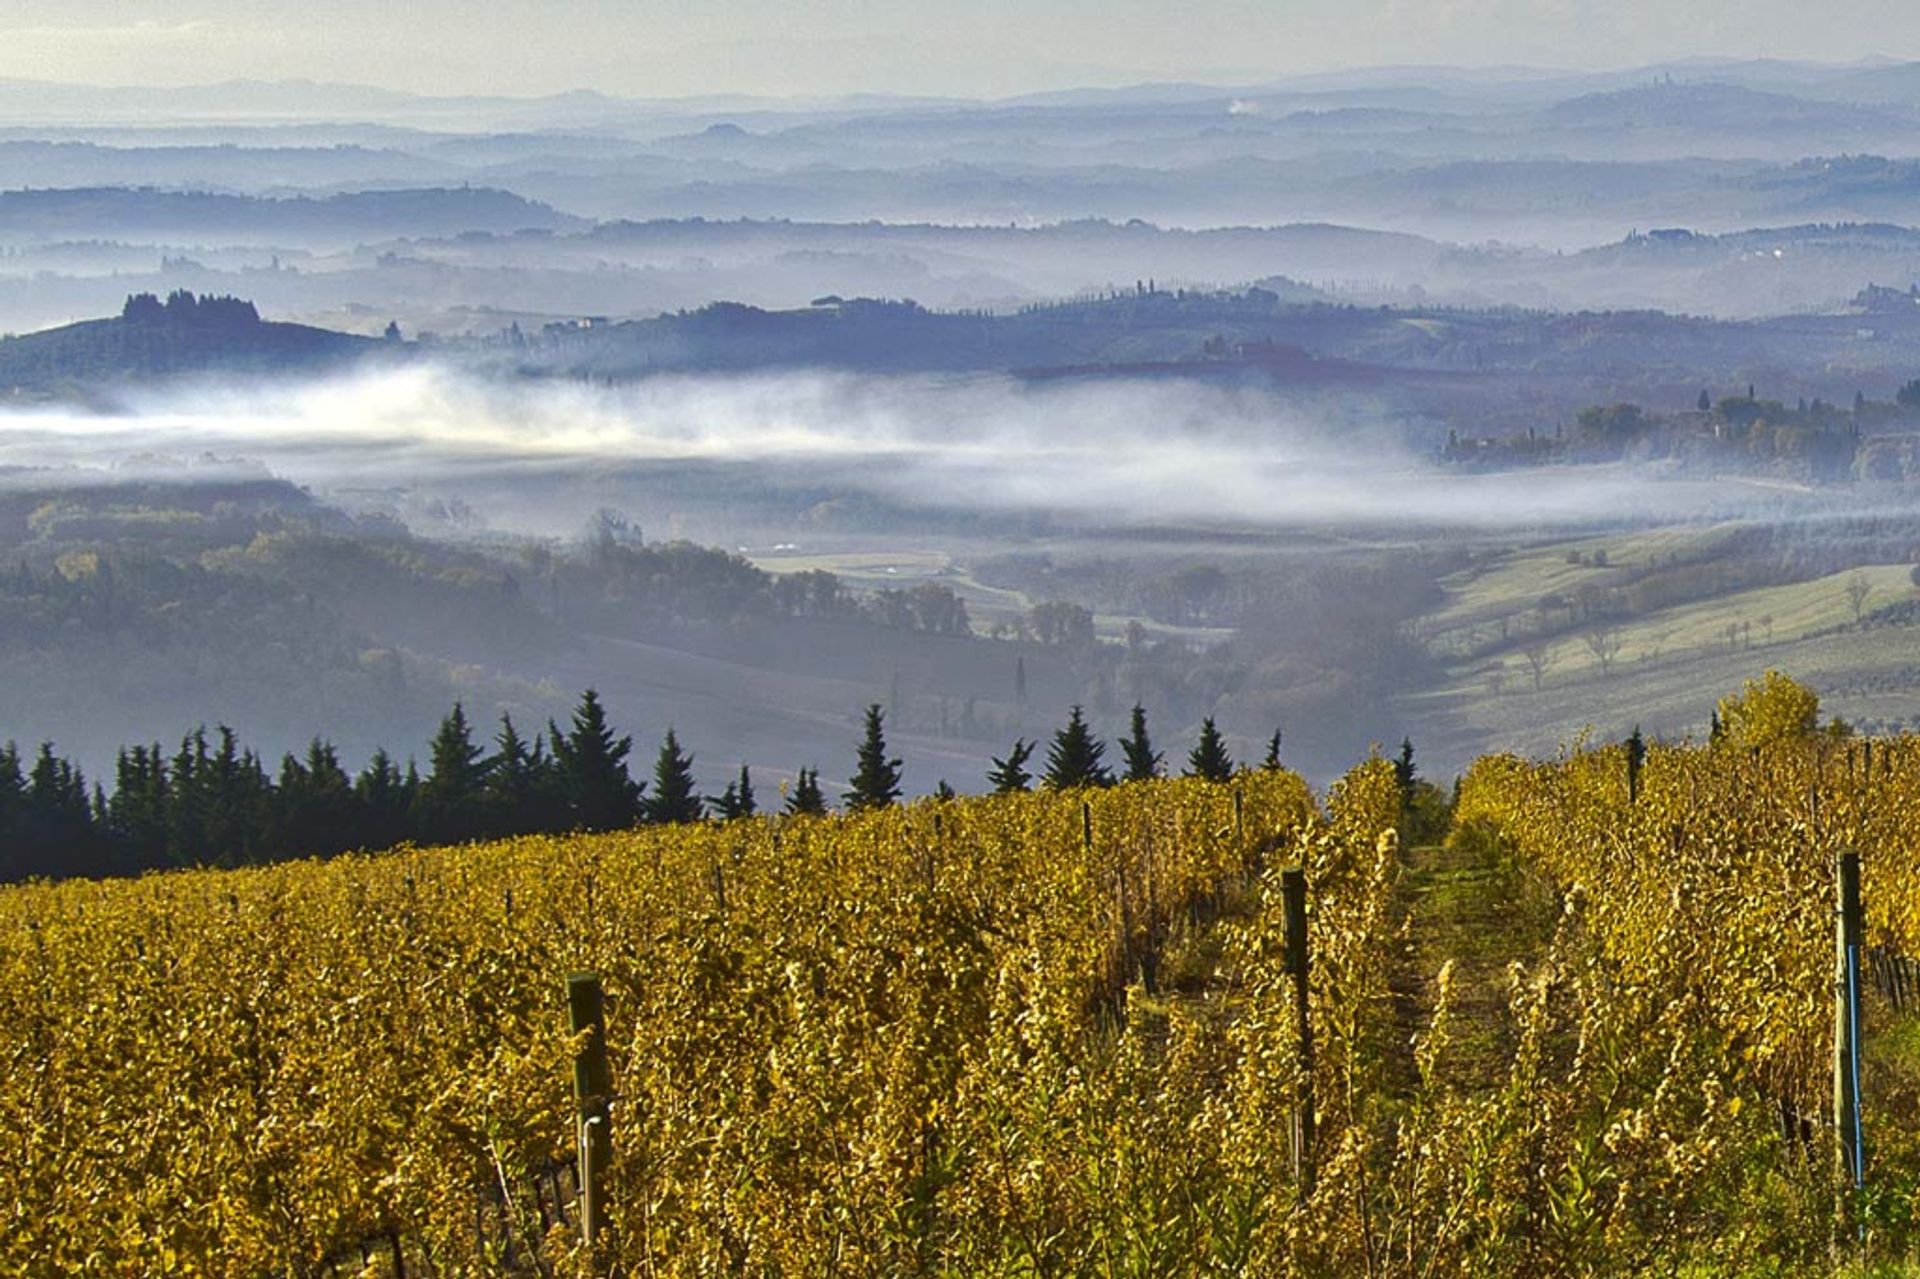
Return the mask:
<svg viewBox="0 0 1920 1279"><path fill-rule="evenodd" d="M582 693L566 728L547 720L532 736L501 716L492 749L474 739L455 703L440 722L422 776L384 749L359 774L342 768L334 747L315 737L303 757L280 759L278 774L230 728L196 728L171 755L156 745L119 751L113 789L88 784L81 768L42 743L21 755L0 747L0 881L29 878L125 876L173 866L244 866L292 857L390 849L401 843L463 843L507 835L609 832L637 824L732 820L760 810L745 764L718 795L701 795L693 757L672 730L653 776L628 770L632 737L616 737L593 689ZM1016 739L993 760L995 791L1112 785L1160 776L1164 757L1146 734L1146 711L1119 741L1121 762L1106 762L1079 707L1048 743L1044 766L1027 768L1037 741ZM1267 743L1265 766L1279 768L1281 734ZM1409 747L1411 751L1411 747ZM1409 755L1411 759L1411 755ZM1187 757L1187 776L1227 780L1235 762L1208 718ZM885 716L866 709L856 766L843 795L849 810L900 797L900 760L891 759ZM952 789L941 782L941 795ZM787 814L824 814L820 770L801 768L783 797Z"/></svg>

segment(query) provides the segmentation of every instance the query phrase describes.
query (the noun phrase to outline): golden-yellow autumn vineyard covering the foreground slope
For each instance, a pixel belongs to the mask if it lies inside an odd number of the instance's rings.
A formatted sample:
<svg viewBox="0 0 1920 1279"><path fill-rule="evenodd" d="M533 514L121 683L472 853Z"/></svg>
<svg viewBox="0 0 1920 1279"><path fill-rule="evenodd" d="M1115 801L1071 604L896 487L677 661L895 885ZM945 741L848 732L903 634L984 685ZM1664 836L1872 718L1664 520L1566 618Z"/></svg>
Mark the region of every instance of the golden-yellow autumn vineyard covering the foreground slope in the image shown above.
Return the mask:
<svg viewBox="0 0 1920 1279"><path fill-rule="evenodd" d="M1907 972L1916 808L1920 743L1728 734L1484 759L1444 853L1373 759L8 889L0 1273L1899 1264L1920 1031L1866 1004L1837 1191L1834 866Z"/></svg>

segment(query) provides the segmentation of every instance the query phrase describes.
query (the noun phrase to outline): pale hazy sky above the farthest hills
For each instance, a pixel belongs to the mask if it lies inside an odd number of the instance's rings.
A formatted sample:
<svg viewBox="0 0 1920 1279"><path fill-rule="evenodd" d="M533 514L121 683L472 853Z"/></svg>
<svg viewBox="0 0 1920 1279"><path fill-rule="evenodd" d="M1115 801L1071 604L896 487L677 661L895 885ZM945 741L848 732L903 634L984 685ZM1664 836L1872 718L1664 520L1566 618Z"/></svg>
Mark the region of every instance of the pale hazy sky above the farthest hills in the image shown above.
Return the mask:
<svg viewBox="0 0 1920 1279"><path fill-rule="evenodd" d="M1920 58L1914 0L0 0L0 77L1012 94L1382 63Z"/></svg>

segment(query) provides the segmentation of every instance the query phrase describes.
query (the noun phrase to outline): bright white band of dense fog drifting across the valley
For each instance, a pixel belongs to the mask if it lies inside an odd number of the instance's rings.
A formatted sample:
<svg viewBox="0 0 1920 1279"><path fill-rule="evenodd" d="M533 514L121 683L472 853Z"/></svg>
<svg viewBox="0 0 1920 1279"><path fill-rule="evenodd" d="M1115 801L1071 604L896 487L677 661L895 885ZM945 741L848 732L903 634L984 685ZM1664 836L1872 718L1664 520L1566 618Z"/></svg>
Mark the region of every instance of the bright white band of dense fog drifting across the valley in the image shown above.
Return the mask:
<svg viewBox="0 0 1920 1279"><path fill-rule="evenodd" d="M1471 474L1442 467L1363 399L1300 403L1190 380L756 374L586 386L409 367L175 390L121 413L0 415L0 467L190 478L202 457L257 461L323 495L461 495L495 528L534 534L576 532L595 505L672 499L674 476L695 472L703 492L720 474L720 492L743 501L791 490L1098 524L1501 530L1791 499L1636 469Z"/></svg>

